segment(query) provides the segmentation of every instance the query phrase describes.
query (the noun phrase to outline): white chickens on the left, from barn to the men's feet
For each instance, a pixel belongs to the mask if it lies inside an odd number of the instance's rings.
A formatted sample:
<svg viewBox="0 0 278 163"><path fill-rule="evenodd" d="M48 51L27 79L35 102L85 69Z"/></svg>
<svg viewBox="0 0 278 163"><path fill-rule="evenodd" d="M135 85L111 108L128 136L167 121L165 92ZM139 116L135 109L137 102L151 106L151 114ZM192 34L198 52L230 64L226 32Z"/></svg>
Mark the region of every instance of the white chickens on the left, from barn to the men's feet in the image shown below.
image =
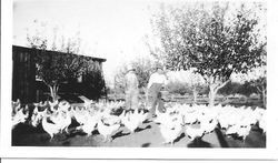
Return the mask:
<svg viewBox="0 0 278 163"><path fill-rule="evenodd" d="M12 102L12 129L19 123L24 123L30 116L30 124L37 128L41 123L52 140L56 134L69 133L68 128L75 119L80 124L76 130L83 131L88 136L97 130L105 137L103 141L111 141L111 135L121 126L126 126L133 133L148 115L143 110L123 111L120 115L111 114L111 111L123 104L123 102L92 102L85 106L72 106L67 101L41 102L34 103L32 114L29 115L28 106L21 108L20 102L17 101Z"/></svg>

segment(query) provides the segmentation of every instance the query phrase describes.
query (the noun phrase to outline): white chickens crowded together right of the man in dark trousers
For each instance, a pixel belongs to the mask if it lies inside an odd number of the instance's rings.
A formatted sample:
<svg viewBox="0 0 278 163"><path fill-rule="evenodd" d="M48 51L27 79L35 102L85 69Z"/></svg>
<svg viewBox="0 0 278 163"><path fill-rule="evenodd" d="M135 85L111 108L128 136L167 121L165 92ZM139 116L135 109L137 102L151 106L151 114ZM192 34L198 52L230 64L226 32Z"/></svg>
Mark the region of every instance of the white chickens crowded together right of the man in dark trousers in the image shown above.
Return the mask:
<svg viewBox="0 0 278 163"><path fill-rule="evenodd" d="M226 135L242 137L244 142L252 125L266 132L266 110L250 106L235 108L231 105L193 105L168 103L166 113L157 113L155 122L159 123L165 143L173 141L185 133L189 139L201 139L220 128ZM198 124L198 125L195 125Z"/></svg>

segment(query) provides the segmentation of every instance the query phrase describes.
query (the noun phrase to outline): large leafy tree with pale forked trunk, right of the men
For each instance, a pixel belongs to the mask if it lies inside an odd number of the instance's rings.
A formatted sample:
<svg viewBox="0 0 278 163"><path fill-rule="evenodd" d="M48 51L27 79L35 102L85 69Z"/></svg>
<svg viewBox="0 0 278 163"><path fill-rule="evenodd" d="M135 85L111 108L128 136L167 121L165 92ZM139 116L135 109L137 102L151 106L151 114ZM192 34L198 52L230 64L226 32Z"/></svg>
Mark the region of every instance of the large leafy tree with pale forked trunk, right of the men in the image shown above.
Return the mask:
<svg viewBox="0 0 278 163"><path fill-rule="evenodd" d="M232 10L228 2L197 2L166 10L161 6L152 21L161 48L150 52L166 58L172 70L196 68L209 85L211 106L232 72L246 73L262 63L266 40L259 40L259 30L264 29L256 29L259 18L254 13L258 4L252 7L247 10L242 3Z"/></svg>

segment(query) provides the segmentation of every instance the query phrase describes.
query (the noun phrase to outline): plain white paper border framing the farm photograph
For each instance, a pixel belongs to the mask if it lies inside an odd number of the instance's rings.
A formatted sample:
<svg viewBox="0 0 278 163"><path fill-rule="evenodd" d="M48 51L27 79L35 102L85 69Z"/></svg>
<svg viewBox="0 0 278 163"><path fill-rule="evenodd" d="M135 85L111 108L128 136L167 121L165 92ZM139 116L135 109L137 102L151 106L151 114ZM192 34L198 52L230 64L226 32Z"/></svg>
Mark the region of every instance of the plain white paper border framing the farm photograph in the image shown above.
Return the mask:
<svg viewBox="0 0 278 163"><path fill-rule="evenodd" d="M11 83L12 83L12 0L1 1L1 157L37 159L170 159L170 160L277 160L278 108L276 43L278 17L276 0L267 1L267 147L266 149L187 149L187 147L34 147L11 146Z"/></svg>

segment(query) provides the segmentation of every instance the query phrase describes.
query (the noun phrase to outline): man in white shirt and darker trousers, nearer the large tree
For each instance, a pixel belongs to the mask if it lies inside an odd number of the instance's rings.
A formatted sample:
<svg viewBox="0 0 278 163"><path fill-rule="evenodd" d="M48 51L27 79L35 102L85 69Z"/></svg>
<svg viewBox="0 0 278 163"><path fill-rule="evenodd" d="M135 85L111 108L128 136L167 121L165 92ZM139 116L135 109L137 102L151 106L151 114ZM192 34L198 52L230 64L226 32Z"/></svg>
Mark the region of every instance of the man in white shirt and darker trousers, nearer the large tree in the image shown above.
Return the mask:
<svg viewBox="0 0 278 163"><path fill-rule="evenodd" d="M167 84L167 77L162 70L162 67L157 67L157 72L152 73L148 83L148 102L150 95L150 114L152 118L156 116L156 108L158 108L159 112L165 111L163 101L161 99L161 89Z"/></svg>

